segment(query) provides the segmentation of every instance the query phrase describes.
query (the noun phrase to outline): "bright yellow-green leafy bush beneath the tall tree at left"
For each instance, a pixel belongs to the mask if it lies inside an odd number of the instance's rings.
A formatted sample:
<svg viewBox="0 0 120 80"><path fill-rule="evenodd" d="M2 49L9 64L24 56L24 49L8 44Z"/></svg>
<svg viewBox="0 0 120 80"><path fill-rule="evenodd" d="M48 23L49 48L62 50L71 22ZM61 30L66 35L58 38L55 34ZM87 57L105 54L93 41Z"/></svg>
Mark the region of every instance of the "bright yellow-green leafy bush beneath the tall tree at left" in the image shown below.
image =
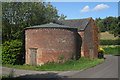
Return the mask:
<svg viewBox="0 0 120 80"><path fill-rule="evenodd" d="M19 64L22 42L19 40L5 41L2 44L2 64Z"/></svg>

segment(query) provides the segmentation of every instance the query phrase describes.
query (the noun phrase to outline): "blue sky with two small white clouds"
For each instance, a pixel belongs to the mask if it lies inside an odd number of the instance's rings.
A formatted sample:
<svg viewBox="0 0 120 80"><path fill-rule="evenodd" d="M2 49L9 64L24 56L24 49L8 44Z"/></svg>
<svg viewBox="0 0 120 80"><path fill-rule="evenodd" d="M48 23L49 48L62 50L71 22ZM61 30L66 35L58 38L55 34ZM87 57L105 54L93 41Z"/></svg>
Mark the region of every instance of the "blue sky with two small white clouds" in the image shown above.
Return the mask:
<svg viewBox="0 0 120 80"><path fill-rule="evenodd" d="M118 16L118 2L51 2L66 19L105 18Z"/></svg>

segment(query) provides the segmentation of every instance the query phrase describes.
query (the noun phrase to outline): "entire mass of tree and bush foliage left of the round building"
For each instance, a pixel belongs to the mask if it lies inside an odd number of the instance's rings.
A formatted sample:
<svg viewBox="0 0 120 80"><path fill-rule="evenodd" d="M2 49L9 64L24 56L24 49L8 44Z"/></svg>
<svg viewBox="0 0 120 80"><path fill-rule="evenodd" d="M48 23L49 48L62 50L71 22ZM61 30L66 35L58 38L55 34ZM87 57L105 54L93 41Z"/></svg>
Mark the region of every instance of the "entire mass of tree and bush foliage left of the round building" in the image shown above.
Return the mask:
<svg viewBox="0 0 120 80"><path fill-rule="evenodd" d="M24 56L18 58L18 55L25 54L25 27L53 22L59 18L57 9L50 3L3 2L3 63L18 64L22 62ZM64 16L62 16L63 18Z"/></svg>

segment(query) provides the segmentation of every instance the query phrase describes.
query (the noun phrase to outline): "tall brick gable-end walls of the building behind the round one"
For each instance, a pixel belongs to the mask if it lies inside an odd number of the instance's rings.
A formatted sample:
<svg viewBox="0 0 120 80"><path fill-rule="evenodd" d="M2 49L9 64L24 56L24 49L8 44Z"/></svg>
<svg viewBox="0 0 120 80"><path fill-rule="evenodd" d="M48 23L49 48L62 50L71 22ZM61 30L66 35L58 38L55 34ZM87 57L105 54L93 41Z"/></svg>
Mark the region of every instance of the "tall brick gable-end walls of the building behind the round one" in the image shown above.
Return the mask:
<svg viewBox="0 0 120 80"><path fill-rule="evenodd" d="M78 32L82 37L81 56L97 58L99 46L99 28L91 18L84 31Z"/></svg>

